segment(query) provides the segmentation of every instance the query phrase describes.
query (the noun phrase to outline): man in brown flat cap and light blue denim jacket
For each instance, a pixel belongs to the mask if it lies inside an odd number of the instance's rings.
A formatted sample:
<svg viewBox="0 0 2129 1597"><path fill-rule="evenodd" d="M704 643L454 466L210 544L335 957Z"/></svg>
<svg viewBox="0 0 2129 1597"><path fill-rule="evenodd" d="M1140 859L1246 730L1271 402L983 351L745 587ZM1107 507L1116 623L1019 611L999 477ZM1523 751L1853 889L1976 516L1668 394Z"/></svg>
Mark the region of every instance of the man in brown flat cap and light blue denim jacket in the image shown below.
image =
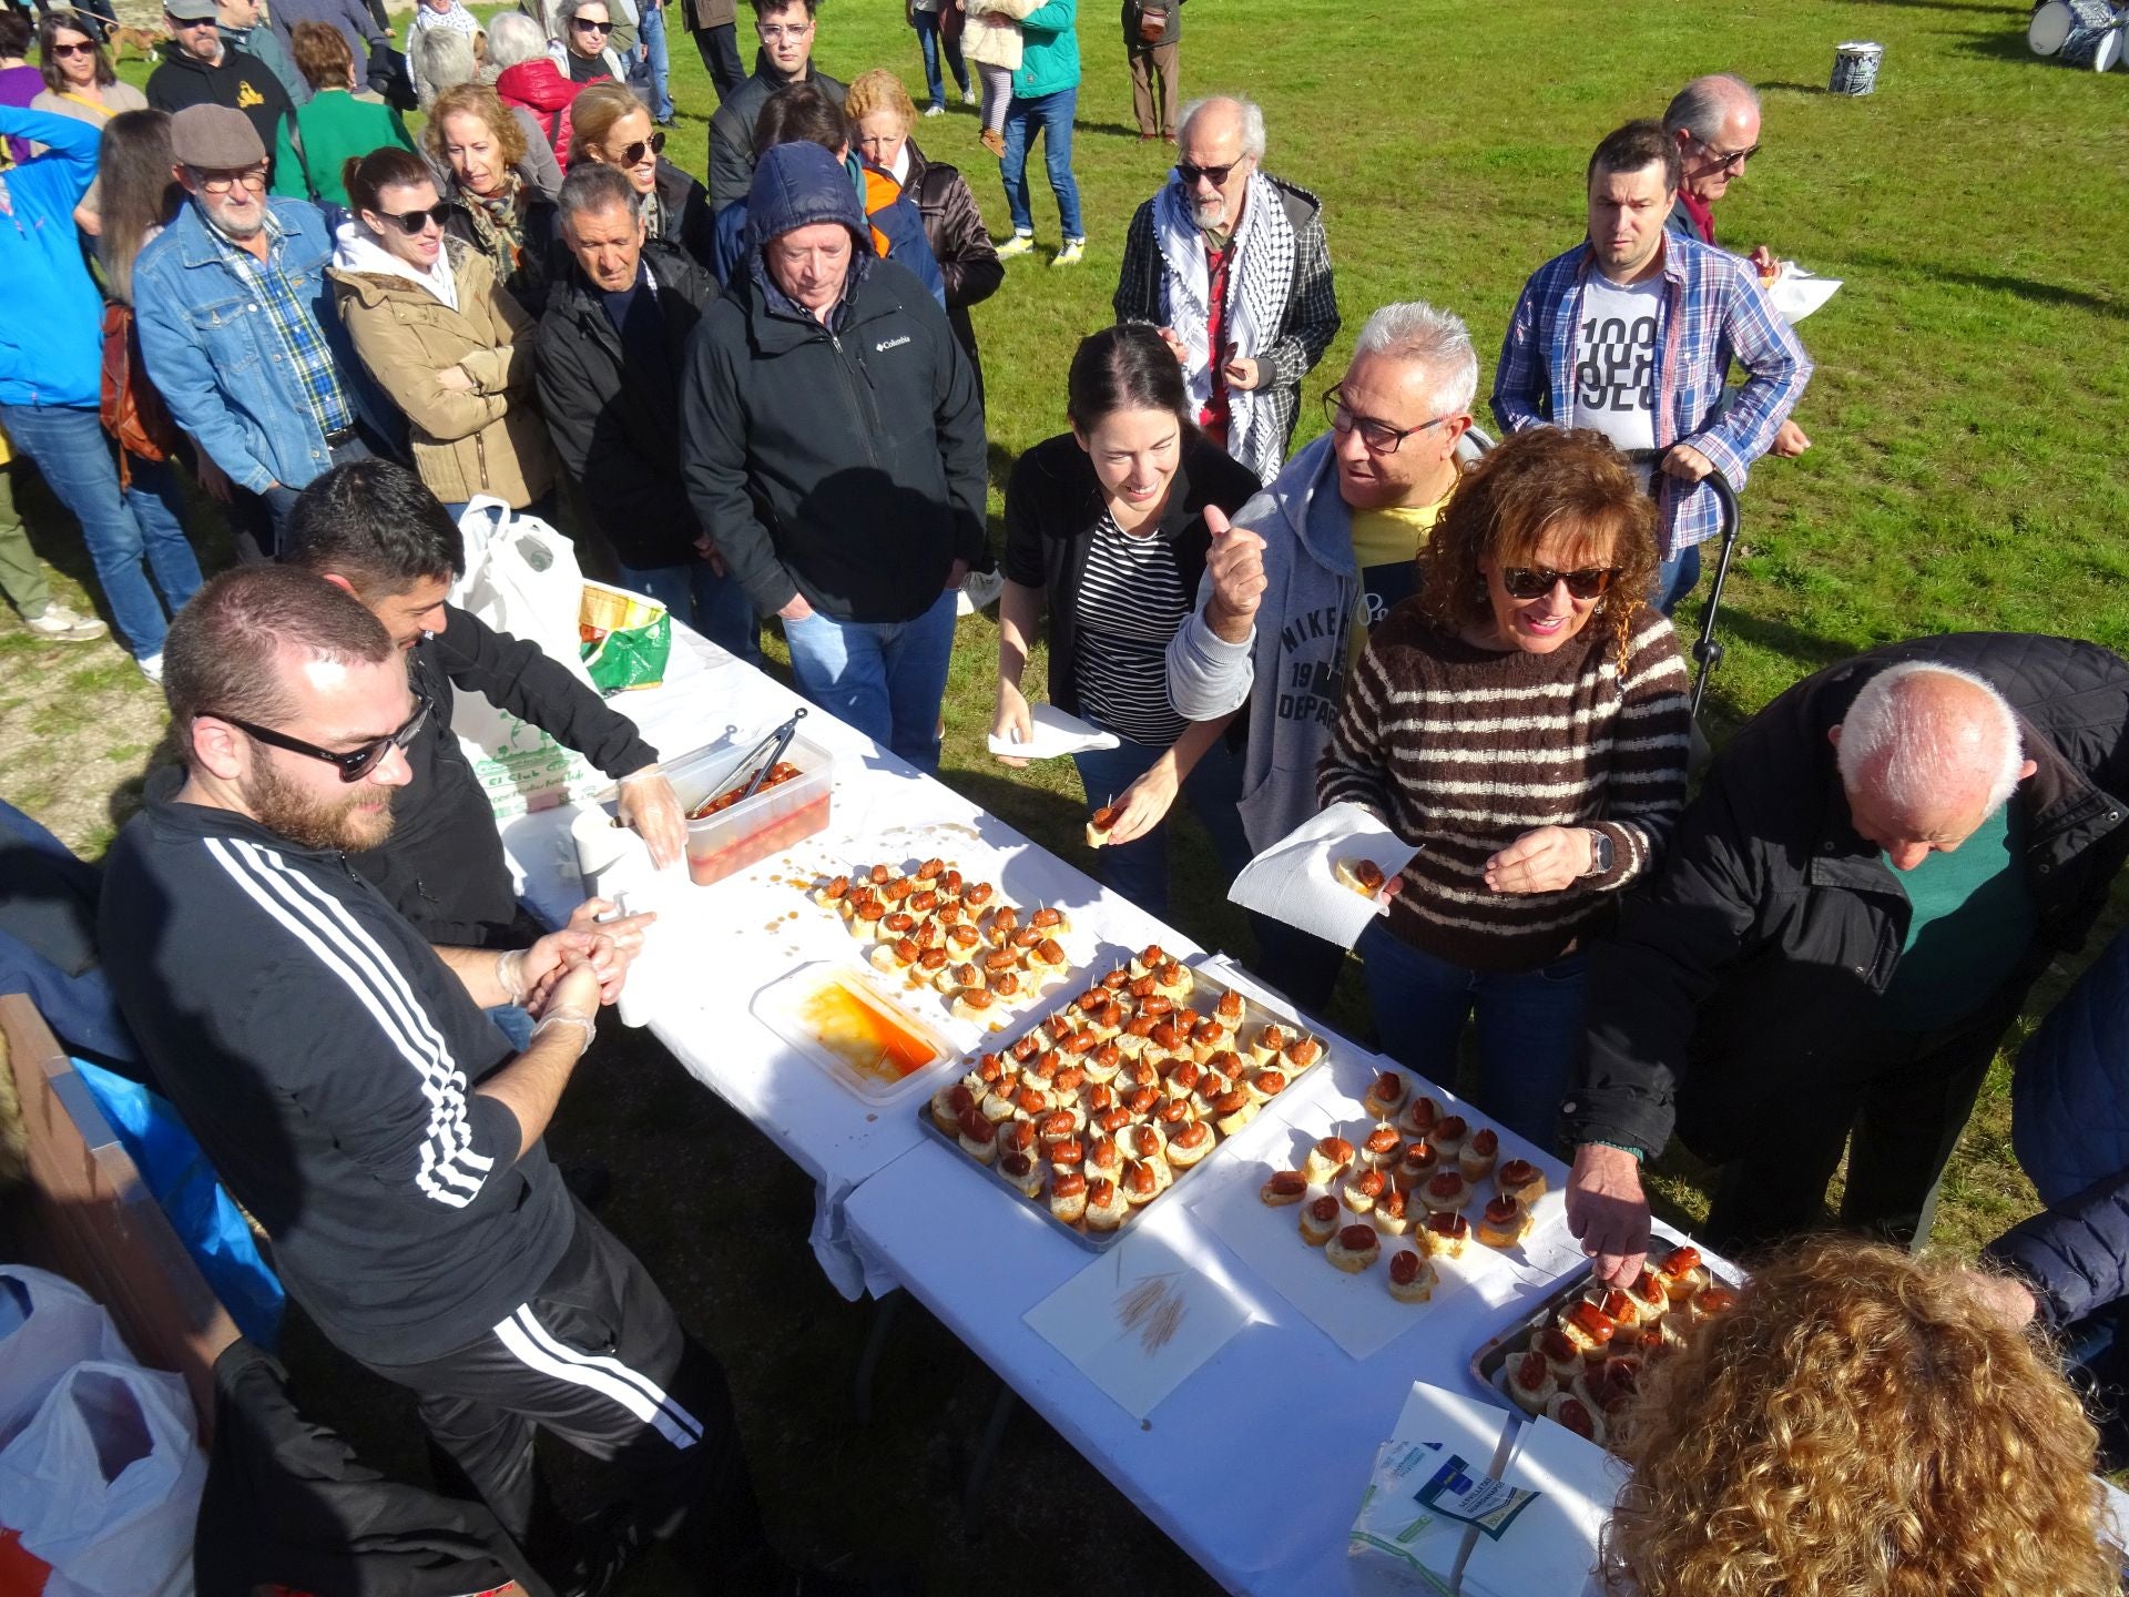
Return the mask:
<svg viewBox="0 0 2129 1597"><path fill-rule="evenodd" d="M168 70L168 68L164 68ZM192 196L134 264L141 356L232 505L241 560L273 558L296 492L394 426L332 311L332 234L315 204L266 198L266 149L238 111L170 119Z"/></svg>

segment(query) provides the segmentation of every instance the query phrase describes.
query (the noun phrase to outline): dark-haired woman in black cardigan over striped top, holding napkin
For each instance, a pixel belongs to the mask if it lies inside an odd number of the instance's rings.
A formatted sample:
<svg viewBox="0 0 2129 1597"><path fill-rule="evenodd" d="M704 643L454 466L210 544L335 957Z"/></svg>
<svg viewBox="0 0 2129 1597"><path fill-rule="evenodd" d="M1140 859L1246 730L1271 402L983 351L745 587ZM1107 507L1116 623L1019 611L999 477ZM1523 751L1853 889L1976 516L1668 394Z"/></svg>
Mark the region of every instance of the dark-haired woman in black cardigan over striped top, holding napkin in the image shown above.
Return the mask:
<svg viewBox="0 0 2129 1597"><path fill-rule="evenodd" d="M1103 837L1101 875L1167 916L1162 820L1177 792L1211 833L1222 869L1250 858L1226 720L1175 713L1167 652L1205 575L1207 511L1239 511L1256 477L1190 426L1182 368L1154 328L1126 324L1084 339L1067 394L1071 432L1020 456L1005 490L992 735L1033 737L1020 681L1047 607L1050 703L1118 739L1113 750L1073 756L1090 833Z"/></svg>

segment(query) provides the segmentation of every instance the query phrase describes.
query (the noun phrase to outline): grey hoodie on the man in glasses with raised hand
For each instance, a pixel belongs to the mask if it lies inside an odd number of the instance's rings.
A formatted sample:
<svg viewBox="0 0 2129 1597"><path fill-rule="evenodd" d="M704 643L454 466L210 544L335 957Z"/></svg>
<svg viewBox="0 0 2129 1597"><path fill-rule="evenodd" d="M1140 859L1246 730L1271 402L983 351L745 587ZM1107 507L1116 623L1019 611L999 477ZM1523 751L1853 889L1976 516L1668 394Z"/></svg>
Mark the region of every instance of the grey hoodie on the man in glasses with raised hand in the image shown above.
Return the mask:
<svg viewBox="0 0 2129 1597"><path fill-rule="evenodd" d="M1265 598L1250 639L1224 643L1205 624L1207 573L1196 611L1169 643L1177 713L1205 722L1250 705L1239 809L1258 854L1316 813L1316 760L1346 688L1360 571L1331 443L1326 432L1307 445L1235 517L1265 541Z"/></svg>

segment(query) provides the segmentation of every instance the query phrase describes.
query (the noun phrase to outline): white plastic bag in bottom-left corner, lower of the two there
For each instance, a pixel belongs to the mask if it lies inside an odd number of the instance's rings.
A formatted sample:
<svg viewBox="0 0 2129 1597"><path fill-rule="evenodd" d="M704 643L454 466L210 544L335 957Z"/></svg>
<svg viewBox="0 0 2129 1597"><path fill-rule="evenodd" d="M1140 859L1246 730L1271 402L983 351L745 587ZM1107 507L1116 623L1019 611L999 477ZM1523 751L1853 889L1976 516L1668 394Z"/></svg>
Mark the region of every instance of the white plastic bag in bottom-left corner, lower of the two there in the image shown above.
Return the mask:
<svg viewBox="0 0 2129 1597"><path fill-rule="evenodd" d="M185 1382L92 1359L0 1450L0 1525L51 1565L45 1597L189 1597L204 1484Z"/></svg>

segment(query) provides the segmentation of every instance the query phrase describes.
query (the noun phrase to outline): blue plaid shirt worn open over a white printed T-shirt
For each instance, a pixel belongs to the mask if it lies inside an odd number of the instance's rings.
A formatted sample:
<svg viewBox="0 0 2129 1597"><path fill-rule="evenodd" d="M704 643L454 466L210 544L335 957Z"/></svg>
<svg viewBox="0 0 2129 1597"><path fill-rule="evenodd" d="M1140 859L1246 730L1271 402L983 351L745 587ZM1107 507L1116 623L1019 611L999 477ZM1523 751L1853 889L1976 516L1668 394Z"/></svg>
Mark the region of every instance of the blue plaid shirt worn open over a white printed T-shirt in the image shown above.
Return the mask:
<svg viewBox="0 0 2129 1597"><path fill-rule="evenodd" d="M1575 326L1595 268L1595 253L1580 243L1522 285L1492 377L1492 417L1505 432L1573 417ZM1812 358L1748 262L1676 232L1663 236L1656 347L1656 449L1688 443L1742 490L1748 466L1803 398ZM1731 360L1746 368L1746 381L1724 402ZM1665 560L1722 530L1722 507L1705 485L1658 473L1656 507Z"/></svg>

